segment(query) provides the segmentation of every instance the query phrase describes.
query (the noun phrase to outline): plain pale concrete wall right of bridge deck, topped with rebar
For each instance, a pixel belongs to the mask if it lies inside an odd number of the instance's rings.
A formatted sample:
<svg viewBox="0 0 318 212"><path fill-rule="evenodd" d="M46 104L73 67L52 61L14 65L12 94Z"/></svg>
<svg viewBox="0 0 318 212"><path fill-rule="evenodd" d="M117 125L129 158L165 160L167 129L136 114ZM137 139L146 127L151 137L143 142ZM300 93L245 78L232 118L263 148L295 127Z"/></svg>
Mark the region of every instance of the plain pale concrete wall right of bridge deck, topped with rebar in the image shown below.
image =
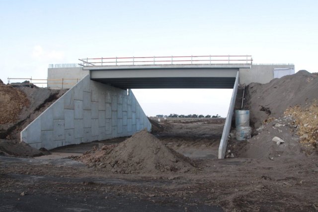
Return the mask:
<svg viewBox="0 0 318 212"><path fill-rule="evenodd" d="M250 69L239 69L239 84L251 82L267 83L274 78L275 68L292 68L294 65L252 65Z"/></svg>

